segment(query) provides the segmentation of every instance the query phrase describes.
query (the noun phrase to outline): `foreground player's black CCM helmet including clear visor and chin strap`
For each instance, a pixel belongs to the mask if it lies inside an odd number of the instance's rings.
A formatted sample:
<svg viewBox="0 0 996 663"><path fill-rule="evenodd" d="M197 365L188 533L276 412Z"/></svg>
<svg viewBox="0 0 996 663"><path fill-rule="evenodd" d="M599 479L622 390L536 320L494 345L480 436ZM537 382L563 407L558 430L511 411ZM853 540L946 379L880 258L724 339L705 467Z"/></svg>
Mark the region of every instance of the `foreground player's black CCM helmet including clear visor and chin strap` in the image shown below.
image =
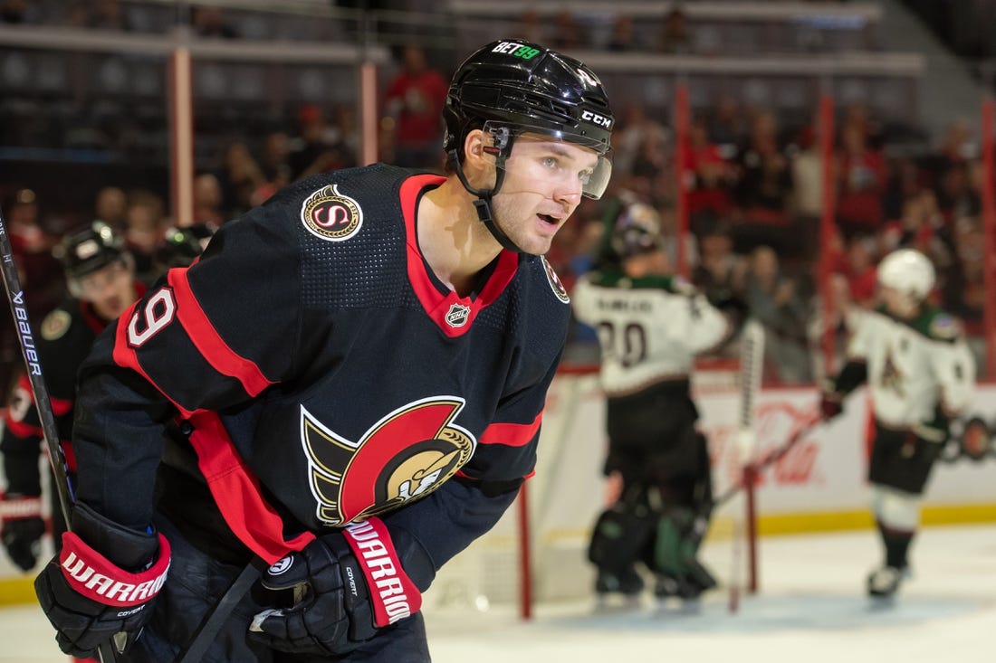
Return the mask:
<svg viewBox="0 0 996 663"><path fill-rule="evenodd" d="M594 150L600 158L582 192L600 198L609 184L616 119L602 82L574 58L521 40L492 42L464 60L453 75L443 119L447 165L477 196L478 217L508 250L520 251L495 223L491 198L501 188L505 159L520 133L538 133ZM489 153L497 172L491 189L471 186L463 172L464 140L474 129L483 129L493 141Z"/></svg>

